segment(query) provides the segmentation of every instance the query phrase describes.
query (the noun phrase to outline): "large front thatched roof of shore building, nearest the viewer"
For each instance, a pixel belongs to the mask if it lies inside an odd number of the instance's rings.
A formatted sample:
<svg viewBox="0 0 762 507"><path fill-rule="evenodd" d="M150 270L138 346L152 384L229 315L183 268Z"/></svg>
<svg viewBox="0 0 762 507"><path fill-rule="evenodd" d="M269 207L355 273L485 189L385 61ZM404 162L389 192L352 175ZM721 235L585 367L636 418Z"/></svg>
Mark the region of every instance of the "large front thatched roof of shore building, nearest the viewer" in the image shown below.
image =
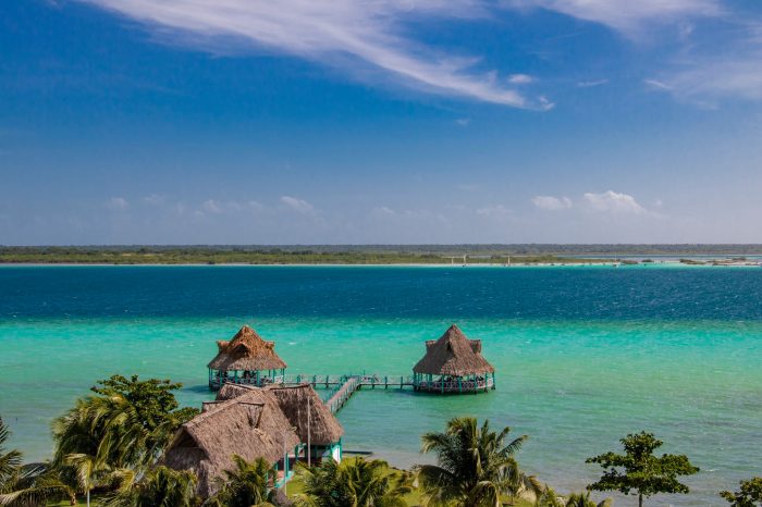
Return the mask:
<svg viewBox="0 0 762 507"><path fill-rule="evenodd" d="M247 461L262 457L274 463L284 447L291 453L299 444L275 396L262 389L207 403L204 409L181 426L162 458L175 470L193 470L202 497L214 494L214 478L233 468L234 454Z"/></svg>

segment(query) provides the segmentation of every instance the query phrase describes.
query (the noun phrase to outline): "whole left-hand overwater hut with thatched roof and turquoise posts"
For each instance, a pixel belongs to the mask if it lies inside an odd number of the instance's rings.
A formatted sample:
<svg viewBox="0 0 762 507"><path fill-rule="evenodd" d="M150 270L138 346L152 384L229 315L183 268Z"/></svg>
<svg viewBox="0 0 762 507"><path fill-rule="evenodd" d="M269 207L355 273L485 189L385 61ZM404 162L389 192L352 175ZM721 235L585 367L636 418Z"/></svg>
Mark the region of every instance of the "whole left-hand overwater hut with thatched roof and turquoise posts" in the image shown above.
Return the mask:
<svg viewBox="0 0 762 507"><path fill-rule="evenodd" d="M211 388L225 383L261 386L283 379L286 363L275 354L275 343L266 342L248 325L231 341L217 342L217 356L207 364Z"/></svg>

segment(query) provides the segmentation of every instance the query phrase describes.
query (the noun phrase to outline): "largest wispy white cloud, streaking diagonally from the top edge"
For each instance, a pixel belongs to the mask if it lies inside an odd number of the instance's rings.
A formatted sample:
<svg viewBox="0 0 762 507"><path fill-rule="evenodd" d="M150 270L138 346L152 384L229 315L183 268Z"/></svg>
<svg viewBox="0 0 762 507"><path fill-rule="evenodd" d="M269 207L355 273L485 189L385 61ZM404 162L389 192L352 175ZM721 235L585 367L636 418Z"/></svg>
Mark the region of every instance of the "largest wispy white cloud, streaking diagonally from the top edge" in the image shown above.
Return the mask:
<svg viewBox="0 0 762 507"><path fill-rule="evenodd" d="M144 22L175 44L287 53L427 92L549 108L506 86L494 71L476 71L478 57L446 54L403 35L408 21L487 16L491 8L483 0L81 1Z"/></svg>

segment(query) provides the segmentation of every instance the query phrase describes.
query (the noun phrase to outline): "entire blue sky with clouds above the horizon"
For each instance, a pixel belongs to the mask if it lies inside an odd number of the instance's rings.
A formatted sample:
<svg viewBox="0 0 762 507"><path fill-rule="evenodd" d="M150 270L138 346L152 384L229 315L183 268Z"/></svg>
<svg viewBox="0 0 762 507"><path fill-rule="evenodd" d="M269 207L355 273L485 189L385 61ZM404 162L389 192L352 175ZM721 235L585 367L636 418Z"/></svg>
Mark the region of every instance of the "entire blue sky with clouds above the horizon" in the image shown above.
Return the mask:
<svg viewBox="0 0 762 507"><path fill-rule="evenodd" d="M759 0L0 2L0 245L762 243Z"/></svg>

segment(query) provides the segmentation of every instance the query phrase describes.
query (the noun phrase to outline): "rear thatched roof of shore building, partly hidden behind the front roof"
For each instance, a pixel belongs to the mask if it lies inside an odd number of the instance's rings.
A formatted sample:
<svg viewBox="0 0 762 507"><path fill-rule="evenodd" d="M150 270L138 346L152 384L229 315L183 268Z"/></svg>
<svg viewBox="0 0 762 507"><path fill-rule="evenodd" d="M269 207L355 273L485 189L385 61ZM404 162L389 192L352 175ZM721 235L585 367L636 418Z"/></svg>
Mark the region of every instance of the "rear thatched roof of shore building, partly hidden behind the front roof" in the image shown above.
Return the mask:
<svg viewBox="0 0 762 507"><path fill-rule="evenodd" d="M331 410L320 399L311 385L303 383L298 385L268 385L263 389L251 385L225 384L217 395L218 400L232 399L245 396L253 391L263 391L278 401L285 417L296 428L296 433L303 443L307 443L307 426L309 425L310 443L314 445L329 445L344 434L344 429L339 423ZM309 399L309 403L307 400ZM309 420L307 406L309 405Z"/></svg>

